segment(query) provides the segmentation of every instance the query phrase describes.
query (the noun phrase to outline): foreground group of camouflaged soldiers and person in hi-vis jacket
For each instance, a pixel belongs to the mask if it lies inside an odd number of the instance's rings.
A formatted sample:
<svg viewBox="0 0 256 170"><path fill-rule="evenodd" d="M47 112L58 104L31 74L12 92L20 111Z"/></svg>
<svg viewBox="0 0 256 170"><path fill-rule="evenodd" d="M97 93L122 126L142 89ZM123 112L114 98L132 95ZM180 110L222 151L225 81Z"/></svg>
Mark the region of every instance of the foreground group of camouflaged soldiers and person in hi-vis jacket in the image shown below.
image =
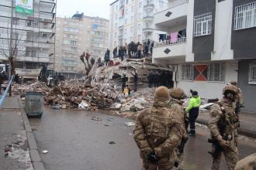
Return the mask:
<svg viewBox="0 0 256 170"><path fill-rule="evenodd" d="M134 140L143 159L142 169L185 169L184 146L189 136L195 137L195 119L199 114L201 99L197 91L191 90L189 106L183 110L184 90L157 87L154 104L137 117ZM212 149L213 170L220 169L222 155L228 169L234 170L239 161L237 128L239 110L243 107L242 92L236 82L223 88L223 98L210 109L209 143ZM188 126L190 124L190 131ZM251 168L252 169L252 168Z"/></svg>

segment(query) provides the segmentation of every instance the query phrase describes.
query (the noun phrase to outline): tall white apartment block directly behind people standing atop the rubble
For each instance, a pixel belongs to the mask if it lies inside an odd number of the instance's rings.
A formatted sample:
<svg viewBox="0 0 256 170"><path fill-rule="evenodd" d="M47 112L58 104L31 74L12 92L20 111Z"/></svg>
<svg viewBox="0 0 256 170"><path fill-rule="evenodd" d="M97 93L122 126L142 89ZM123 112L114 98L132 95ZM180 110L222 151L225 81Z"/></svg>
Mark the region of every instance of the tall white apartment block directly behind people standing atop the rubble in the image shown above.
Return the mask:
<svg viewBox="0 0 256 170"><path fill-rule="evenodd" d="M130 42L156 39L154 12L164 7L163 0L117 0L110 4L109 49Z"/></svg>

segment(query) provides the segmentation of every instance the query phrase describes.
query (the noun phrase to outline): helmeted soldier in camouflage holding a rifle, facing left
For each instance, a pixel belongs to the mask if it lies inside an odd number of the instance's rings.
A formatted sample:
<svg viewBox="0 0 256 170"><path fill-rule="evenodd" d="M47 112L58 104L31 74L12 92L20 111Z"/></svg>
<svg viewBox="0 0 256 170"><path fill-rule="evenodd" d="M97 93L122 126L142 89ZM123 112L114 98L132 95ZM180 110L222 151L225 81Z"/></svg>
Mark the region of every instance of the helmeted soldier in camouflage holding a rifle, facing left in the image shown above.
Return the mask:
<svg viewBox="0 0 256 170"><path fill-rule="evenodd" d="M223 99L214 104L210 110L209 130L211 131L213 148L212 169L220 169L222 153L226 158L229 170L234 170L238 158L237 116L235 102L237 87L227 86L223 89Z"/></svg>

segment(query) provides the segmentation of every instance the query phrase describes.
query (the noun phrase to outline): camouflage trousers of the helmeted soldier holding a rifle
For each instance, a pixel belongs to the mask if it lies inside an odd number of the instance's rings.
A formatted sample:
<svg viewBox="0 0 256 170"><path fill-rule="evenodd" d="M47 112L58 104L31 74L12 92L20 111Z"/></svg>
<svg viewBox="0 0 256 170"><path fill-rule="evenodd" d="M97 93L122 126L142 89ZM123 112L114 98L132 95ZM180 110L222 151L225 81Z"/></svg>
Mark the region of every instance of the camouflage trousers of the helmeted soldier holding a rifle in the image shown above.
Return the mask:
<svg viewBox="0 0 256 170"><path fill-rule="evenodd" d="M215 159L213 159L212 170L220 169L222 155L225 156L228 169L234 170L237 162L239 161L237 146L234 145L234 143L232 142L229 148L225 149L225 151L220 152L220 154L217 155Z"/></svg>

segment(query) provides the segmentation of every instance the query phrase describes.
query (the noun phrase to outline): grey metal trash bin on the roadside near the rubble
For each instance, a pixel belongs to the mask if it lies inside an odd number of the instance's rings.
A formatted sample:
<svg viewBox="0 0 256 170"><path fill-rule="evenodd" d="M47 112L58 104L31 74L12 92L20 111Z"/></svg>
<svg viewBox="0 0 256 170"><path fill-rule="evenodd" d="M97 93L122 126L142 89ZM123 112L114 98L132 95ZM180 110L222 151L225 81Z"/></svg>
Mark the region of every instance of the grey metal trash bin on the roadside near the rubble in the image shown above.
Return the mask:
<svg viewBox="0 0 256 170"><path fill-rule="evenodd" d="M25 95L25 111L28 117L42 117L43 93L28 92Z"/></svg>

